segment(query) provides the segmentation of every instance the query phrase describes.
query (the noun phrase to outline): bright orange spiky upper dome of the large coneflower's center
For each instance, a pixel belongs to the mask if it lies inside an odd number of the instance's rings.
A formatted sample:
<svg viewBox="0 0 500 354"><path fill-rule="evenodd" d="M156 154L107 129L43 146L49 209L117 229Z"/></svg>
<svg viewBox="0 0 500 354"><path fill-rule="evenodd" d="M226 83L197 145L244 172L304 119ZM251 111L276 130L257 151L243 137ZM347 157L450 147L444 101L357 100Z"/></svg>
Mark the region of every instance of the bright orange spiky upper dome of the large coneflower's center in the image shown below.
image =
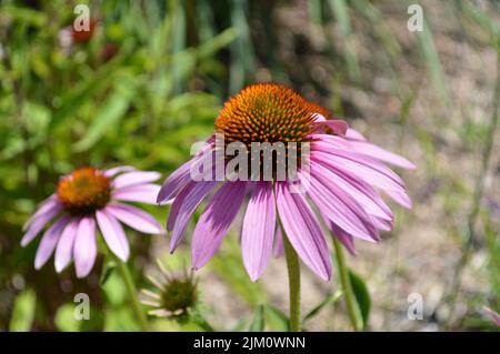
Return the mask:
<svg viewBox="0 0 500 354"><path fill-rule="evenodd" d="M216 120L216 132L226 143L303 142L314 130L317 107L293 90L277 83L249 85L226 102Z"/></svg>

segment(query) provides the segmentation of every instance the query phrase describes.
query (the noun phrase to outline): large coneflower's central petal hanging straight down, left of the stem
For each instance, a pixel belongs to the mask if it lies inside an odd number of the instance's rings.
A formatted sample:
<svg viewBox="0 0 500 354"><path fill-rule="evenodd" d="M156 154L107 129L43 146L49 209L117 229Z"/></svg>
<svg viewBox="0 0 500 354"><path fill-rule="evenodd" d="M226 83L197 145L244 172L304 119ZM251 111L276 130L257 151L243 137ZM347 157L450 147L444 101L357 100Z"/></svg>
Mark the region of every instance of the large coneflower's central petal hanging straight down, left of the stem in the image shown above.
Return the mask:
<svg viewBox="0 0 500 354"><path fill-rule="evenodd" d="M243 264L252 281L260 277L271 256L276 202L271 182L257 182L244 214L241 232Z"/></svg>

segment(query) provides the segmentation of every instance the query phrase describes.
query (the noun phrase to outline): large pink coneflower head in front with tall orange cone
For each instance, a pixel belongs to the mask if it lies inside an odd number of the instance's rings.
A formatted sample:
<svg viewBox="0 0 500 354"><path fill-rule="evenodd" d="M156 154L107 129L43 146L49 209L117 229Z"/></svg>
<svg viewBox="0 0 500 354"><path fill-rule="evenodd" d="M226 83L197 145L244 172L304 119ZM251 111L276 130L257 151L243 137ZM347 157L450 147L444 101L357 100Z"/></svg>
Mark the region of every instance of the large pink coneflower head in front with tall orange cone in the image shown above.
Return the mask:
<svg viewBox="0 0 500 354"><path fill-rule="evenodd" d="M171 252L196 209L209 195L192 235L193 269L204 265L217 252L241 209L246 209L242 257L252 280L268 264L276 235L280 234L278 224L303 263L323 280L331 276L331 261L322 224L351 252L354 237L379 241L379 231L392 229L393 214L378 190L402 206L411 206L403 181L384 163L404 169L414 165L368 142L346 122L329 118L326 109L274 83L250 85L226 102L214 124L224 144L298 143L300 151L301 144L309 143L309 169L301 168L304 161L299 161L298 169L299 180L308 181L309 188L298 193L294 181L278 179L193 181L191 169L202 159L197 155L167 179L158 195L159 203L174 198L167 224ZM214 139L208 142L208 150L214 152Z"/></svg>

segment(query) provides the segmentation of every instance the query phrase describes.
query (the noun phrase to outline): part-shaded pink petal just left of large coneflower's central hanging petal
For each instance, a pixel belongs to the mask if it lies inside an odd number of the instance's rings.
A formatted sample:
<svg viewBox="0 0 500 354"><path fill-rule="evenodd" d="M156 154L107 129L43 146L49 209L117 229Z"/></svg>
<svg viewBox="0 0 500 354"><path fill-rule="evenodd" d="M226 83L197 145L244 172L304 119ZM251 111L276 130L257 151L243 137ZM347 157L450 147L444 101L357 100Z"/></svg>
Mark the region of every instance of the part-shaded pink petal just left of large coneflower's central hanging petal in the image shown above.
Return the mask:
<svg viewBox="0 0 500 354"><path fill-rule="evenodd" d="M226 182L208 203L192 236L193 269L203 266L219 249L240 210L246 189L246 182Z"/></svg>

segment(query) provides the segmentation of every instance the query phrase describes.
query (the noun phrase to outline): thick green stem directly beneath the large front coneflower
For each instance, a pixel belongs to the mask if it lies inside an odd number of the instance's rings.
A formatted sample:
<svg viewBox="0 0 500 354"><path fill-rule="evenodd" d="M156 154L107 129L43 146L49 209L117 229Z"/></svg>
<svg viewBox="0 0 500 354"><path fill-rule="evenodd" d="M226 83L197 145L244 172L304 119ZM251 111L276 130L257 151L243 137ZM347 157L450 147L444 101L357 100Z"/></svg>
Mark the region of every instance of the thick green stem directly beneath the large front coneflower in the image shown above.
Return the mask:
<svg viewBox="0 0 500 354"><path fill-rule="evenodd" d="M287 259L288 282L290 291L290 331L300 332L300 264L296 250L288 241L283 229L281 227L283 237L284 257Z"/></svg>

